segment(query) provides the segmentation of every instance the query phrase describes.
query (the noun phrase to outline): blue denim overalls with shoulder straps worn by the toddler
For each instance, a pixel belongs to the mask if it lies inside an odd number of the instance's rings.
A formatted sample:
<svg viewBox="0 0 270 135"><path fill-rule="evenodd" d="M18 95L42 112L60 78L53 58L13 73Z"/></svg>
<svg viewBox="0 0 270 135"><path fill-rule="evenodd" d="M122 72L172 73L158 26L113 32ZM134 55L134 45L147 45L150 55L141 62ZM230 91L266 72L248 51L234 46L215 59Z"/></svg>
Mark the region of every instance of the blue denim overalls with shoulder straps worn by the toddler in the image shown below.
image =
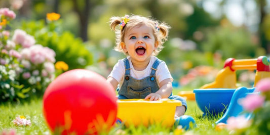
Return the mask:
<svg viewBox="0 0 270 135"><path fill-rule="evenodd" d="M156 80L156 71L161 60L157 59L152 65L150 75L142 79L135 79L130 75L131 68L127 58L124 63L125 76L118 92L118 99L144 99L150 93L156 93L160 89Z"/></svg>

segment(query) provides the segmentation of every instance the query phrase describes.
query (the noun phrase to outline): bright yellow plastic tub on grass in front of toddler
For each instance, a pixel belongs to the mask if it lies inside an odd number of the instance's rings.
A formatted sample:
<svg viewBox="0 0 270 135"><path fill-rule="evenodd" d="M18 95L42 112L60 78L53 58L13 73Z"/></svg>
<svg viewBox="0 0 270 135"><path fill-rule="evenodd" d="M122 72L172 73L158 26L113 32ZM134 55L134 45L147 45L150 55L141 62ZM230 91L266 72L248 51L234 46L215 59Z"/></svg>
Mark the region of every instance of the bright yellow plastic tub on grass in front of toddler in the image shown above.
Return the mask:
<svg viewBox="0 0 270 135"><path fill-rule="evenodd" d="M172 127L176 106L182 103L178 100L161 99L149 101L143 99L117 100L117 117L126 126L161 124L165 127Z"/></svg>

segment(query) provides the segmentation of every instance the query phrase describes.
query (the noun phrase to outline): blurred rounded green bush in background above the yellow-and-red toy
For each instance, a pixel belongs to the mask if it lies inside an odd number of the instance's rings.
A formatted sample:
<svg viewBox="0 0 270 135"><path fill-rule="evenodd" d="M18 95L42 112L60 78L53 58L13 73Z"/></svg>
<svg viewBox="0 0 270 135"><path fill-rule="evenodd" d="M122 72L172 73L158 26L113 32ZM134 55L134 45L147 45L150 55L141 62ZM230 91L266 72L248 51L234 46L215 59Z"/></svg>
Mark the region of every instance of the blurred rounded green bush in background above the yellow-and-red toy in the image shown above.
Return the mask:
<svg viewBox="0 0 270 135"><path fill-rule="evenodd" d="M226 19L221 21L221 26L209 28L207 39L202 44L204 52L219 53L223 59L256 58L260 55L258 44L252 42L252 34L246 28L236 28Z"/></svg>

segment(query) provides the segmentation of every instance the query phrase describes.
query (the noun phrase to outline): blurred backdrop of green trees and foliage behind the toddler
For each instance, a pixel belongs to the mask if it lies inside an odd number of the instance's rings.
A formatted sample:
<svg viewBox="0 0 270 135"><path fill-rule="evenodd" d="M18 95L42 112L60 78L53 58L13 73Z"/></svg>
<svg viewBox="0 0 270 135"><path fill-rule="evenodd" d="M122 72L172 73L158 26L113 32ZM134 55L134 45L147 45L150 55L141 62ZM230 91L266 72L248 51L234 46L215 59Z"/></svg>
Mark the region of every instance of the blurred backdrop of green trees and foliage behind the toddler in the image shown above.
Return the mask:
<svg viewBox="0 0 270 135"><path fill-rule="evenodd" d="M13 5L19 1L23 4L16 10ZM69 70L87 68L104 77L125 57L112 50L115 39L109 18L125 14L152 16L172 27L158 57L166 61L178 82L201 65L221 69L227 58L268 55L269 3L268 0L1 0L0 6L13 9L17 22L12 25L35 36L38 44L53 49L56 61L66 62ZM236 7L233 4L238 4L241 12L231 11L230 7ZM46 14L51 12L59 13L61 18L46 29ZM231 12L242 13L245 17L242 23L230 19Z"/></svg>

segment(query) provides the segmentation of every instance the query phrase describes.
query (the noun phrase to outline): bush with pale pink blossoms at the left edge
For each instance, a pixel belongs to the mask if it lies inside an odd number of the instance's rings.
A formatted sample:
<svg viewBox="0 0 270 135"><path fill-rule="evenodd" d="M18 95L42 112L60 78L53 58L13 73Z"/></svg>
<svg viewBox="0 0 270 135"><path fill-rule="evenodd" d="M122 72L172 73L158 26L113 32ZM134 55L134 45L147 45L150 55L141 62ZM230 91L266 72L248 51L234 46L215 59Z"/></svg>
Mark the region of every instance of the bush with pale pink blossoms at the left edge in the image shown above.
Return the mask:
<svg viewBox="0 0 270 135"><path fill-rule="evenodd" d="M0 9L1 102L42 96L55 73L53 50L35 44L34 37L23 30L7 30L15 17L8 8Z"/></svg>

